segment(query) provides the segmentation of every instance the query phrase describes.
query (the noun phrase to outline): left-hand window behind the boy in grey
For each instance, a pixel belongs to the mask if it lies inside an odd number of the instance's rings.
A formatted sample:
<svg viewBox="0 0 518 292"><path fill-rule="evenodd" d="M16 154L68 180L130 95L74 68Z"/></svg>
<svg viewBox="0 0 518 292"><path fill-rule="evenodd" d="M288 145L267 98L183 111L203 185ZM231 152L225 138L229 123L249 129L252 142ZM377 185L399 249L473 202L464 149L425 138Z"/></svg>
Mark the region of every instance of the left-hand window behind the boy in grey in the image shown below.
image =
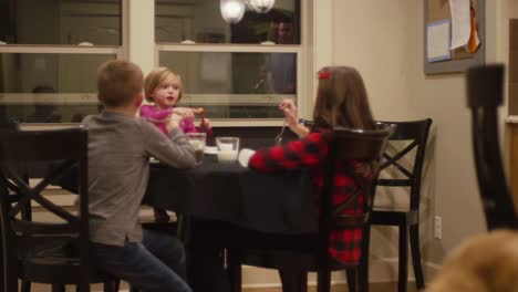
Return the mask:
<svg viewBox="0 0 518 292"><path fill-rule="evenodd" d="M121 0L0 0L0 119L97 112L97 66L122 54Z"/></svg>

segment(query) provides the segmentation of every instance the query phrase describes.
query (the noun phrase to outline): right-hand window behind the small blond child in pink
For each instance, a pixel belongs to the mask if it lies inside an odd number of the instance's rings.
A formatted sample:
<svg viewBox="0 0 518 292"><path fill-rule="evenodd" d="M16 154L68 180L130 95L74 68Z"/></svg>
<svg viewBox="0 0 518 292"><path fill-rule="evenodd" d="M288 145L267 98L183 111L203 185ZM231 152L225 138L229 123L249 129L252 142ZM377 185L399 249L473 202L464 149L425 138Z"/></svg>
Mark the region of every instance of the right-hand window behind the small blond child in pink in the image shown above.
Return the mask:
<svg viewBox="0 0 518 292"><path fill-rule="evenodd" d="M248 7L234 24L220 1L155 3L158 64L182 75L183 105L213 119L279 121L279 102L300 97L300 0L276 1L268 13Z"/></svg>

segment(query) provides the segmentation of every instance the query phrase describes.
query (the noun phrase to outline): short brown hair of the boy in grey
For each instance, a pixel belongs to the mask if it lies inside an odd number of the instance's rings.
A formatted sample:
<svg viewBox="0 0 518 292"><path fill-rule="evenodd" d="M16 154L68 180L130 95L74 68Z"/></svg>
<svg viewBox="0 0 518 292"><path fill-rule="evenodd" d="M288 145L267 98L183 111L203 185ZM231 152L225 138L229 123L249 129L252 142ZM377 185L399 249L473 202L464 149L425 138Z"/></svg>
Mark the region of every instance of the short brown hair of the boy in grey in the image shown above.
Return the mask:
<svg viewBox="0 0 518 292"><path fill-rule="evenodd" d="M138 65L124 60L107 61L97 70L99 100L108 107L128 105L142 92L143 81Z"/></svg>

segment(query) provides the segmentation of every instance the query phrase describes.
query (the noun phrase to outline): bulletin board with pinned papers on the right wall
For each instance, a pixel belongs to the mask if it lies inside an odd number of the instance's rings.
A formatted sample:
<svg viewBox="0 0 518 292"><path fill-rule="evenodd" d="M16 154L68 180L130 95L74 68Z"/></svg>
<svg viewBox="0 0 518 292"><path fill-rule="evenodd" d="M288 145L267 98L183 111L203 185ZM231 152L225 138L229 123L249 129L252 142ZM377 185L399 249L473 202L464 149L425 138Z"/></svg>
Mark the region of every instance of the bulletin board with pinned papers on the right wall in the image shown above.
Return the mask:
<svg viewBox="0 0 518 292"><path fill-rule="evenodd" d="M444 55L438 54L435 56L435 50L433 46L436 42L435 30L442 28L439 35L443 39L447 33L449 27L449 44L452 44L453 21L452 21L452 9L450 0L425 0L424 1L424 71L426 74L438 74L438 73L452 73L463 72L467 67L476 64L483 64L486 58L486 6L485 0L470 0L470 7L473 8L472 13L475 17L473 20L476 21L476 32L479 40L479 45L475 52L467 52L464 46L449 50ZM458 23L458 22L457 22ZM428 43L428 39L434 43ZM428 50L431 51L428 54Z"/></svg>

